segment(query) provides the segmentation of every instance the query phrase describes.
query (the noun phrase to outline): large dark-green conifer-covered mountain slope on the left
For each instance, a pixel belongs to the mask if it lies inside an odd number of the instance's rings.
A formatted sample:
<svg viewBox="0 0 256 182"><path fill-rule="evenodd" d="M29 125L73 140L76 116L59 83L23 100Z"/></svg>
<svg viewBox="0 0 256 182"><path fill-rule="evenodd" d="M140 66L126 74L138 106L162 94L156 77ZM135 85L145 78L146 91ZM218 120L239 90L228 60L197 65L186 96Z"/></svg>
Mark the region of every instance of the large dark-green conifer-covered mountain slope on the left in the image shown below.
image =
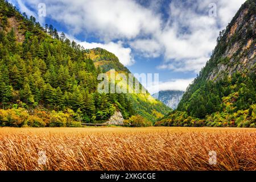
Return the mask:
<svg viewBox="0 0 256 182"><path fill-rule="evenodd" d="M126 119L139 114L134 105L138 96L97 92L98 74L109 69L130 73L129 70L104 49L92 50L97 60L88 56L88 51L64 34L58 35L52 25L43 28L34 17L27 18L0 0L0 106L4 109L0 111L1 125L23 126L30 121L31 126L50 126L52 121L51 126L68 126L63 124L65 117L77 122L98 122L108 119L115 110L120 110ZM104 62L108 60L111 61ZM155 111L168 112L158 101L152 104L146 98L142 103L147 108L144 117L152 122L157 118ZM15 120L22 114L26 117Z"/></svg>

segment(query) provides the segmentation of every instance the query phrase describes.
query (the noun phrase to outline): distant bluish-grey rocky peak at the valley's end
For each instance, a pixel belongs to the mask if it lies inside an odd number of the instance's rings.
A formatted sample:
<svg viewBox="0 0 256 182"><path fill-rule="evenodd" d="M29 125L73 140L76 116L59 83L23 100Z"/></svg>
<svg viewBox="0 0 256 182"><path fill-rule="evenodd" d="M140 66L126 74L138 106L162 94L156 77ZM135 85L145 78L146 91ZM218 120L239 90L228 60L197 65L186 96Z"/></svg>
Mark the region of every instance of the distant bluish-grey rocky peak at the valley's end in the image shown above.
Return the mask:
<svg viewBox="0 0 256 182"><path fill-rule="evenodd" d="M159 101L163 102L168 107L171 107L172 109L176 109L183 94L184 94L183 91L166 90L166 91L160 91L158 93L155 93L152 96L158 99Z"/></svg>

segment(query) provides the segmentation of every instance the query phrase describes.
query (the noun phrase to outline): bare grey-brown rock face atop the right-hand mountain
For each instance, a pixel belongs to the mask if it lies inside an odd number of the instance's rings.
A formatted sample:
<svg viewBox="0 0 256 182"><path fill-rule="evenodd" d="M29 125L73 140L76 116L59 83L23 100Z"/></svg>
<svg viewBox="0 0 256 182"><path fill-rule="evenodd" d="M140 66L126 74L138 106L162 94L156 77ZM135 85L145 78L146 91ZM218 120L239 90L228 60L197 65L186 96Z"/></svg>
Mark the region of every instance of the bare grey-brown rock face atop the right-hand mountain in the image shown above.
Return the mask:
<svg viewBox="0 0 256 182"><path fill-rule="evenodd" d="M230 77L237 71L255 72L256 13L253 3L255 5L255 1L247 1L226 30L220 32L218 45L204 69L214 67L208 69L205 80L220 80L226 73Z"/></svg>

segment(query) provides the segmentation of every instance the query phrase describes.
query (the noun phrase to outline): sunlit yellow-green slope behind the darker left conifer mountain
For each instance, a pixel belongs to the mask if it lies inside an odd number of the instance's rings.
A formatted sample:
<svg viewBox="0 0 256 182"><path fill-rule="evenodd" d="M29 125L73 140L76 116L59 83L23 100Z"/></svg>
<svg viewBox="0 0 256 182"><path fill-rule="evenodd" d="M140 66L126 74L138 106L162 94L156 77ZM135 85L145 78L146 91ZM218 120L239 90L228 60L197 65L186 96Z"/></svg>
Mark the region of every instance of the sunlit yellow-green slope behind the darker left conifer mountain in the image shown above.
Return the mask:
<svg viewBox="0 0 256 182"><path fill-rule="evenodd" d="M101 69L102 72L109 73L110 70L114 69L116 73L124 73L127 78L129 77L129 69L124 67L120 62L118 57L113 53L106 51L102 48L87 49L85 53L86 57L89 57L94 61L94 65L97 69ZM134 78L137 80L136 78ZM137 80L138 81L138 80ZM135 82L135 81L134 81ZM127 85L128 88L131 85L122 81L122 84ZM135 83L133 84L133 86ZM139 84L139 88L143 86ZM146 93L134 93L134 94L125 94L125 97L130 102L132 108L135 110L134 113L142 115L144 118L149 119L150 121L156 121L156 119L163 117L163 115L168 114L171 111L169 107L164 105L162 102L155 100L154 97L146 91Z"/></svg>

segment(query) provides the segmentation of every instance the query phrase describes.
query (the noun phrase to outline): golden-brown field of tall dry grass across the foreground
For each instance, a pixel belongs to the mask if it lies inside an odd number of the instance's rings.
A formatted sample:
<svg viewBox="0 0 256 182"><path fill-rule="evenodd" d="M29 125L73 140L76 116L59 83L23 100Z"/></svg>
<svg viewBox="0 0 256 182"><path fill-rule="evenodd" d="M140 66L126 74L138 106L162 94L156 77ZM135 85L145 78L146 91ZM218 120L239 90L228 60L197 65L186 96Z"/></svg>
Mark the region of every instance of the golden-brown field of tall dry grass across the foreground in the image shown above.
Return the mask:
<svg viewBox="0 0 256 182"><path fill-rule="evenodd" d="M0 170L256 170L255 139L237 128L3 127Z"/></svg>

